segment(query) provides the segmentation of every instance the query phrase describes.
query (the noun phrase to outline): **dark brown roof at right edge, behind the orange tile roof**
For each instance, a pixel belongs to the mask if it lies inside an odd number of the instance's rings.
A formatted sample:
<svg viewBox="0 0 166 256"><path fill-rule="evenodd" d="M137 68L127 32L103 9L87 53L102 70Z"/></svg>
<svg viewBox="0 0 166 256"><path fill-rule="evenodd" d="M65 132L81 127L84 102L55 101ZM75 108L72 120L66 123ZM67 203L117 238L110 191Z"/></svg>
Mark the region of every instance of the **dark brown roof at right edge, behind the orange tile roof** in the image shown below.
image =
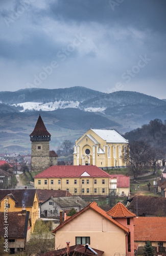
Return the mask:
<svg viewBox="0 0 166 256"><path fill-rule="evenodd" d="M128 209L139 217L166 217L166 198L135 196Z"/></svg>

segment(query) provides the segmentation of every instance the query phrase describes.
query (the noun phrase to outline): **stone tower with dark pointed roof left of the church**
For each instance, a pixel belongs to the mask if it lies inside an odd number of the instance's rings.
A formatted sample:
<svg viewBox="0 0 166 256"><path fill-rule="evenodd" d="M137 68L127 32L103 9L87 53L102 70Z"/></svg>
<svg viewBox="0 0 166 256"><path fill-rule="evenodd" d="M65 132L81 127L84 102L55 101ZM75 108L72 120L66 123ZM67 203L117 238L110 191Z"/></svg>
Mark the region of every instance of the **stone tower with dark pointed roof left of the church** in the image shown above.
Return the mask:
<svg viewBox="0 0 166 256"><path fill-rule="evenodd" d="M43 120L39 115L33 132L30 134L32 141L32 172L45 170L50 167L50 144L51 134L46 130Z"/></svg>

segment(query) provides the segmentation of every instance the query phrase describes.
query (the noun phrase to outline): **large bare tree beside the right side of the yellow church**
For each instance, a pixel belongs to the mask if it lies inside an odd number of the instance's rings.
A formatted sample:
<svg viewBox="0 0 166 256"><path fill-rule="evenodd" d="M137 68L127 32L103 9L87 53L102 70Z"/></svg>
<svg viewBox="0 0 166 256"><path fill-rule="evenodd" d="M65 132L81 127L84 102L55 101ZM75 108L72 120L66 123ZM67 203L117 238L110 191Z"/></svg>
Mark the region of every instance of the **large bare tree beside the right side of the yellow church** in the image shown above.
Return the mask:
<svg viewBox="0 0 166 256"><path fill-rule="evenodd" d="M145 141L133 141L124 149L123 161L133 173L134 180L150 166L149 148L150 144Z"/></svg>

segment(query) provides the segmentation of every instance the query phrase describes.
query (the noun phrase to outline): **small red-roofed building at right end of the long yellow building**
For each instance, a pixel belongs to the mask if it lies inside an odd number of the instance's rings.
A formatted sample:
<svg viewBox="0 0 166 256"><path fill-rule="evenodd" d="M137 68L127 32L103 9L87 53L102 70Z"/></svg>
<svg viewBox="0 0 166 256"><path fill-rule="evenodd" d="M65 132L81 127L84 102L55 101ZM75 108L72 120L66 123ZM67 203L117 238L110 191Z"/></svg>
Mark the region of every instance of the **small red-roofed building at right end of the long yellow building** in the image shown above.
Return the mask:
<svg viewBox="0 0 166 256"><path fill-rule="evenodd" d="M130 195L130 177L121 174L110 175L110 193L119 197L128 197Z"/></svg>

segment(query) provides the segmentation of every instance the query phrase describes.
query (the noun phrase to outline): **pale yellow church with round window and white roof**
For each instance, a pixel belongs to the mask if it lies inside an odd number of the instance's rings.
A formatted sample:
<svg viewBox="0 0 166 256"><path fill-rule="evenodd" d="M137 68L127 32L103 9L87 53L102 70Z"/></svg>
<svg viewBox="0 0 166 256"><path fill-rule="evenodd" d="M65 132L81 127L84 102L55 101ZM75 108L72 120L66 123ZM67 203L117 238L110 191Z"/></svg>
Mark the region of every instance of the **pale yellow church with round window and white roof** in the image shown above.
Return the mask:
<svg viewBox="0 0 166 256"><path fill-rule="evenodd" d="M122 161L128 140L114 130L89 129L76 140L74 165L96 165L100 168L125 167Z"/></svg>

